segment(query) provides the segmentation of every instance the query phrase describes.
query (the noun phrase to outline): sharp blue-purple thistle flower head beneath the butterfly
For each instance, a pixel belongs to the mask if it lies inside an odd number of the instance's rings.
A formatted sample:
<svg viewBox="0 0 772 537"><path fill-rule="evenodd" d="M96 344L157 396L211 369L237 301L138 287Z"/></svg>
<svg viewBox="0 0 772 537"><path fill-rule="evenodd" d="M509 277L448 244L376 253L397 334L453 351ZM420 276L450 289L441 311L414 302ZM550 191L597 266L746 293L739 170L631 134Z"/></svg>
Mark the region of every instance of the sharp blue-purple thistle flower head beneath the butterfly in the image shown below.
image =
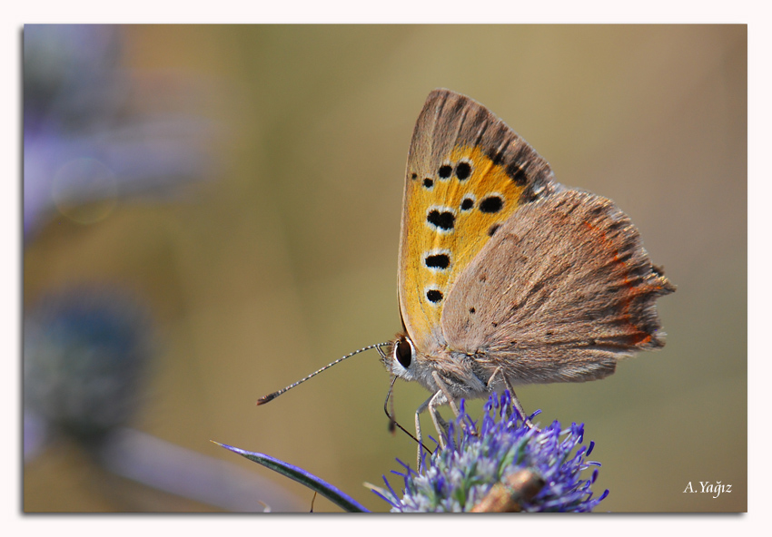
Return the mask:
<svg viewBox="0 0 772 537"><path fill-rule="evenodd" d="M479 428L464 406L461 401L460 415L449 425L447 447L424 461L421 474L398 460L405 471L392 473L404 480L401 497L384 477L388 493L375 493L392 512L589 512L609 495L592 497L597 468L589 479L580 477L600 466L586 460L594 443L574 452L583 424L532 428L513 410L509 391L490 395Z"/></svg>

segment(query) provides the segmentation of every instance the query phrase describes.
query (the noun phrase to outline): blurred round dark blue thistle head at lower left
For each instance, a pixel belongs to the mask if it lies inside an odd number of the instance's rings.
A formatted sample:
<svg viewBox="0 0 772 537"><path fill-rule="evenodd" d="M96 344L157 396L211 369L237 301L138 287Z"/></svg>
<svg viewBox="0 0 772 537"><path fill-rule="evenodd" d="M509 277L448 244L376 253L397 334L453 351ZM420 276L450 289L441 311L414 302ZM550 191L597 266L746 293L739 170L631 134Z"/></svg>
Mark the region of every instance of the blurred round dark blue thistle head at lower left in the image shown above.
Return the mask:
<svg viewBox="0 0 772 537"><path fill-rule="evenodd" d="M131 422L155 354L152 328L134 298L107 287L57 292L27 312L25 429L34 429L25 430L25 458L48 434L72 437L98 454L117 427Z"/></svg>

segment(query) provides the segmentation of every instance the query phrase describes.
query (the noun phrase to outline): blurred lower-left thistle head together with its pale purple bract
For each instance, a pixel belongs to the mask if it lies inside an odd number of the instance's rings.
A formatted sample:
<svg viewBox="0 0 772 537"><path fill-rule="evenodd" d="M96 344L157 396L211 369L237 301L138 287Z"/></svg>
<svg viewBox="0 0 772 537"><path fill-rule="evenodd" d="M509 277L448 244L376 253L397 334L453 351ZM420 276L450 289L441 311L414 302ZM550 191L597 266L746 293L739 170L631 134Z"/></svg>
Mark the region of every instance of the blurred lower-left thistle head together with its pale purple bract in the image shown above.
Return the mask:
<svg viewBox="0 0 772 537"><path fill-rule="evenodd" d="M125 291L71 288L31 308L25 316L25 464L64 437L98 468L153 489L234 512L302 509L291 493L257 474L130 427L144 404L157 347L152 318ZM202 436L204 443L205 431ZM124 496L115 496L124 504Z"/></svg>

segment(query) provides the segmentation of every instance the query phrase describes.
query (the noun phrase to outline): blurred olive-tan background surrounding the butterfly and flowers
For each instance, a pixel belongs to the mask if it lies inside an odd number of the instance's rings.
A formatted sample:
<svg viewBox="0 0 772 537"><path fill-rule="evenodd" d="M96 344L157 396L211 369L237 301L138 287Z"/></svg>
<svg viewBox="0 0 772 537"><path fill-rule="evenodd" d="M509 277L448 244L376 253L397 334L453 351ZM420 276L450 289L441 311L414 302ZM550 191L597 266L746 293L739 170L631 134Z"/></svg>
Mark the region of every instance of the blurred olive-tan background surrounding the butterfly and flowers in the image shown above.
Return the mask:
<svg viewBox="0 0 772 537"><path fill-rule="evenodd" d="M131 89L114 121L194 118L204 133L186 147L203 164L171 197L147 183L124 196L131 181L118 177L107 202L84 203L93 218L60 203L38 220L25 235L24 308L32 316L46 297L98 286L128 290L150 312L157 350L124 425L267 480L264 496L246 498L256 510L275 488L308 511L312 493L210 439L298 464L387 510L362 483L381 484L395 457L414 464L415 448L387 430L389 376L374 351L254 402L400 329L404 164L424 99L447 87L500 116L560 182L615 200L678 285L658 302L664 350L602 382L522 387L525 408L540 408L542 423L586 424L602 464L594 490L611 491L600 511L747 510L745 25L109 30L112 68L130 81L117 87ZM42 62L26 56L31 36L27 26L25 77L57 64L30 63ZM406 428L427 395L397 383ZM49 434L25 459L25 511L223 508L114 478L87 452ZM684 493L689 482L732 492ZM314 511L339 510L317 498Z"/></svg>

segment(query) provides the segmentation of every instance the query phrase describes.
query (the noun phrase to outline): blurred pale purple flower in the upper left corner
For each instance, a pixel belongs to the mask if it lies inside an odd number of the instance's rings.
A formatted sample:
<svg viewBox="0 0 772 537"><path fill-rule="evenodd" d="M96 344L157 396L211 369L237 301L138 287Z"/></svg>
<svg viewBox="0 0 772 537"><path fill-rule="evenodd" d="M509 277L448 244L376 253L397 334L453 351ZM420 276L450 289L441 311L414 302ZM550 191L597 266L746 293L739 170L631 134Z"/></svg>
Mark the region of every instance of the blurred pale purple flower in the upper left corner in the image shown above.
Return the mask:
<svg viewBox="0 0 772 537"><path fill-rule="evenodd" d="M124 69L122 37L116 25L25 25L25 241L57 213L93 223L118 200L165 198L212 175L213 126L159 112L153 101L173 97L168 75Z"/></svg>

